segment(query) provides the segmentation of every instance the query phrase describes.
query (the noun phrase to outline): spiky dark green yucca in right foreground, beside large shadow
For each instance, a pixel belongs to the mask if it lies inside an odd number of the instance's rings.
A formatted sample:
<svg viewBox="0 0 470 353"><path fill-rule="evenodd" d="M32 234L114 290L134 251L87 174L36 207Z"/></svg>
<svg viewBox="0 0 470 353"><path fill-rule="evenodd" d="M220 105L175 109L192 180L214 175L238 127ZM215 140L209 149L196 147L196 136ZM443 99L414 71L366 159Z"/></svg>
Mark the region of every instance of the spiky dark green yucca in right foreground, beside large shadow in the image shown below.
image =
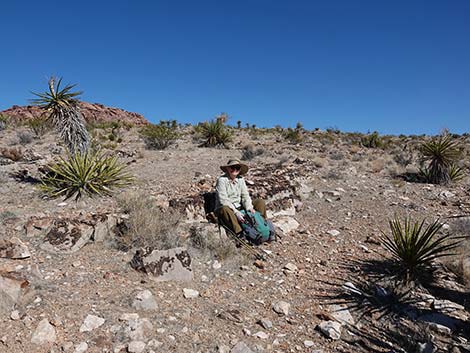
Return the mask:
<svg viewBox="0 0 470 353"><path fill-rule="evenodd" d="M451 255L449 251L460 243L457 237L449 233L437 235L443 226L439 220L426 227L424 222L412 222L411 218L407 217L402 224L395 216L389 221L392 234L382 233L385 248L390 251L401 269L398 275L406 282L416 279L420 271L429 270L435 259Z"/></svg>

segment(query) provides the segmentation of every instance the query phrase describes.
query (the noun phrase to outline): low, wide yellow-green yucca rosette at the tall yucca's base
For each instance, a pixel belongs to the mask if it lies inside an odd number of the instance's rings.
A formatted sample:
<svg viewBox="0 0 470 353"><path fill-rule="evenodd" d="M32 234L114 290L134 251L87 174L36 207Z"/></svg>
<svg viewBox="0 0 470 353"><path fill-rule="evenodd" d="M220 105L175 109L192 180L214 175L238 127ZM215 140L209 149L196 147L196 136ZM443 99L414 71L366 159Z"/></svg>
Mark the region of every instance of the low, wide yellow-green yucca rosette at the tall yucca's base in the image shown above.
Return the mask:
<svg viewBox="0 0 470 353"><path fill-rule="evenodd" d="M75 153L49 165L41 178L41 189L50 197L110 195L112 189L131 183L132 176L116 157L96 153Z"/></svg>

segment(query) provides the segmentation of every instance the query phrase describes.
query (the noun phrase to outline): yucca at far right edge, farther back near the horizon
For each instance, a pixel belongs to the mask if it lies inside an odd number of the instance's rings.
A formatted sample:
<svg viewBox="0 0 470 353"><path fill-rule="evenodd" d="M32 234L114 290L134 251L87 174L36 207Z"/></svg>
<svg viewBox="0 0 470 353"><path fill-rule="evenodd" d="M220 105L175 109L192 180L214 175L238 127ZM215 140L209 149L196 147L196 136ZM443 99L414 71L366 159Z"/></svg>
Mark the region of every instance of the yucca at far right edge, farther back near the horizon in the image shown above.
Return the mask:
<svg viewBox="0 0 470 353"><path fill-rule="evenodd" d="M461 149L451 135L440 136L421 145L421 153L428 165L421 169L421 173L429 183L447 184L463 176L463 170L455 163L460 158Z"/></svg>

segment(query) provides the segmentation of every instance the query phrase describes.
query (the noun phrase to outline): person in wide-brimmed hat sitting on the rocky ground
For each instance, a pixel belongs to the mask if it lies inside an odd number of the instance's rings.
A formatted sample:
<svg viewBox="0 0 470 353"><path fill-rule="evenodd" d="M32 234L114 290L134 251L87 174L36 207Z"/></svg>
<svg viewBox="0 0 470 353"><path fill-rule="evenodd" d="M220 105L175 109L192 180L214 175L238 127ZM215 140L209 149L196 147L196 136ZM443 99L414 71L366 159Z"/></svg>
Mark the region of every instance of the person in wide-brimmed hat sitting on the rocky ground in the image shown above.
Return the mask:
<svg viewBox="0 0 470 353"><path fill-rule="evenodd" d="M217 179L216 192L218 197L218 208L215 211L221 222L230 228L235 234L242 232L240 223L245 220L240 212L254 213L258 211L266 219L266 205L264 200L251 201L243 175L248 171L246 164L240 163L238 159L230 159L226 165L220 167L225 173Z"/></svg>

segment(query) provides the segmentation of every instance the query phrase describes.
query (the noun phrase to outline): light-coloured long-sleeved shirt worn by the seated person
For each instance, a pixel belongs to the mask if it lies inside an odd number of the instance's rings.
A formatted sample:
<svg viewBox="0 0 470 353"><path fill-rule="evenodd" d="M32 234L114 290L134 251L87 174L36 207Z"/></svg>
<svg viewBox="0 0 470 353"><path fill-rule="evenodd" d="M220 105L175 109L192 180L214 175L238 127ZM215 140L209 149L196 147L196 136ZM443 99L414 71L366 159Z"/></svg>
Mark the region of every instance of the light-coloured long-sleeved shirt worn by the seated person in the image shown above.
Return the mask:
<svg viewBox="0 0 470 353"><path fill-rule="evenodd" d="M253 209L253 203L251 202L245 179L242 177L231 180L227 175L222 175L217 179L215 190L217 191L219 207L228 206L235 214L239 213L237 209L241 206L245 210Z"/></svg>

